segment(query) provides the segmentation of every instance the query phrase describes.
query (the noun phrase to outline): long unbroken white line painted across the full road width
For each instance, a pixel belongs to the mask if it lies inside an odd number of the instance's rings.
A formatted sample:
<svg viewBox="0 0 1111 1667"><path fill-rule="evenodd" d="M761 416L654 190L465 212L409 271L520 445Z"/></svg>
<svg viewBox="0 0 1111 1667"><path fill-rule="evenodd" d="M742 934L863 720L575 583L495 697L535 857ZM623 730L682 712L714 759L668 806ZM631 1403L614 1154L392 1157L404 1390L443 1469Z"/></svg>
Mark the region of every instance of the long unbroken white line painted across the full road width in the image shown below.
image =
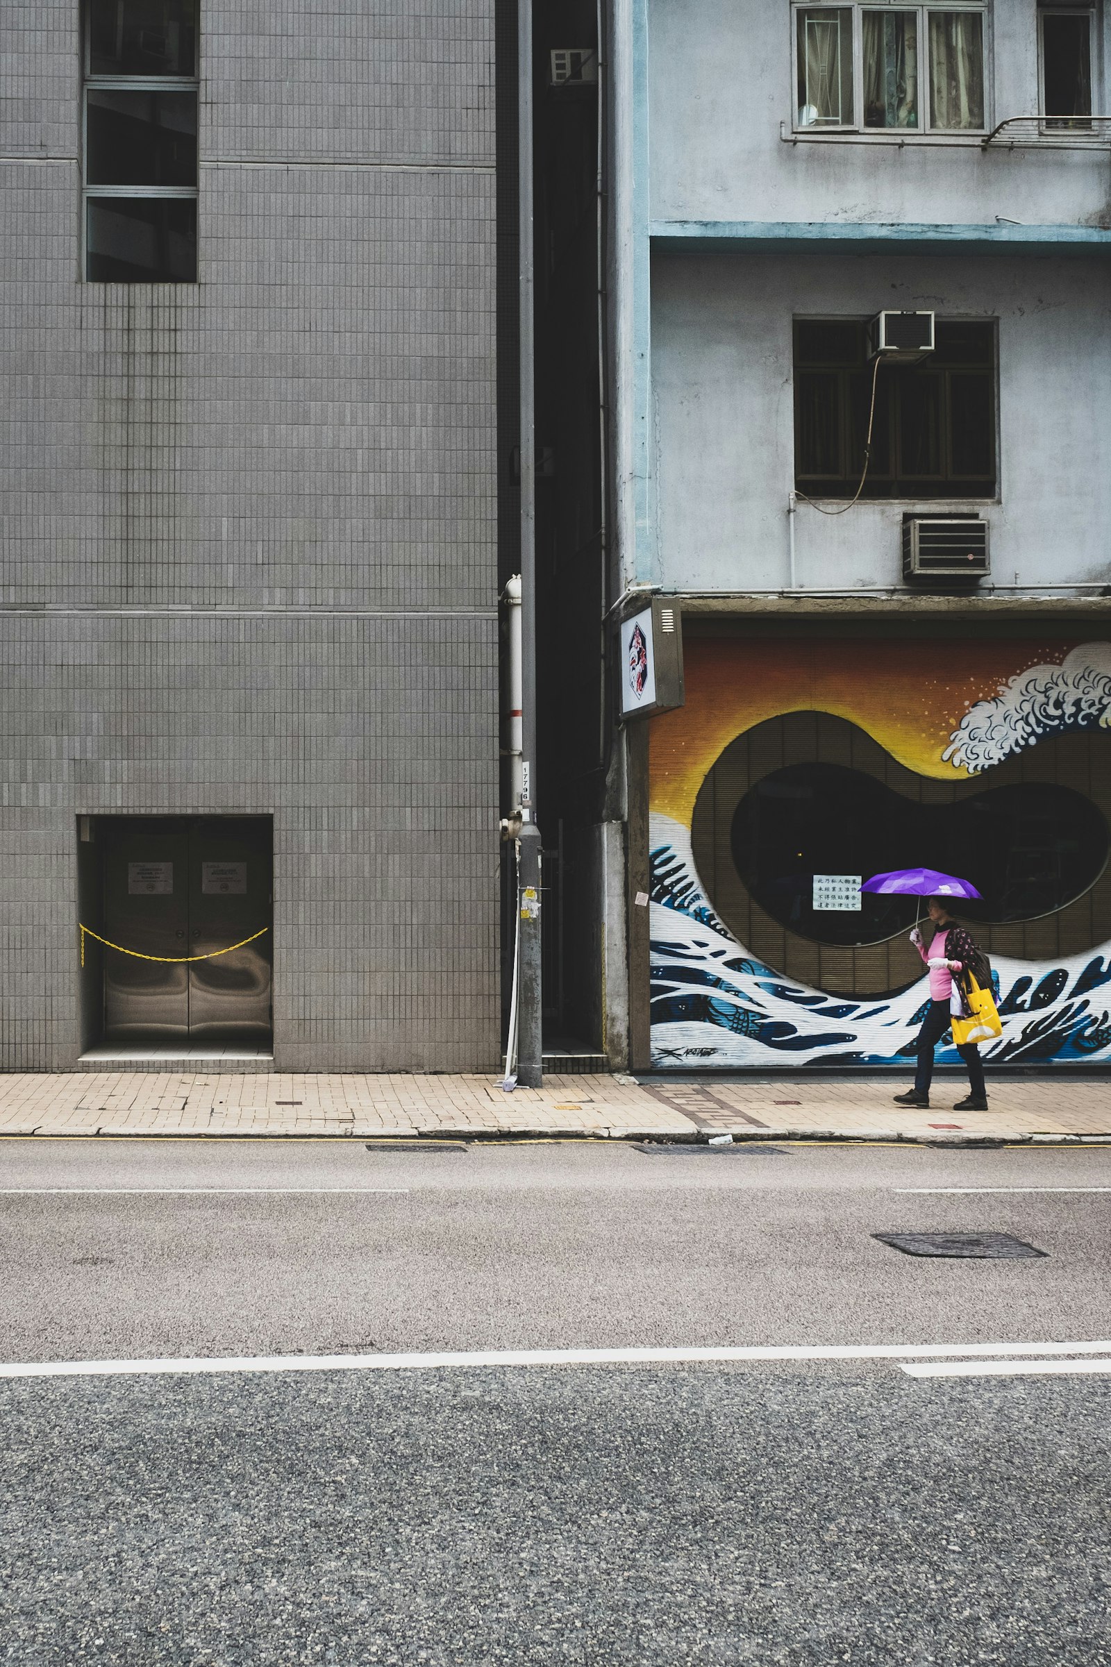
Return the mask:
<svg viewBox="0 0 1111 1667"><path fill-rule="evenodd" d="M786 1344L692 1349L450 1349L439 1354L214 1355L165 1360L17 1360L3 1377L128 1377L163 1372L420 1372L437 1367L666 1365L696 1360L902 1360L926 1355L1106 1354L1111 1342L1074 1344Z"/></svg>

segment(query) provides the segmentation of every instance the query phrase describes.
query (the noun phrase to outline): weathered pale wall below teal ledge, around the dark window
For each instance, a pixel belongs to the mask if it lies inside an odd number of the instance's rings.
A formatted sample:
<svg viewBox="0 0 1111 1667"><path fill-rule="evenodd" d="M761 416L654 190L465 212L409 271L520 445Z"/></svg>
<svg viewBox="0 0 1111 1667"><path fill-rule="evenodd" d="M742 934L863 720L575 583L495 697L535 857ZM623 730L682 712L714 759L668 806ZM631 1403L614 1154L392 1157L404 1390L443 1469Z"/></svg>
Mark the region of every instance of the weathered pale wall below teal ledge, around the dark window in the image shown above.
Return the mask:
<svg viewBox="0 0 1111 1667"><path fill-rule="evenodd" d="M999 320L999 583L1106 583L1111 560L1111 295L1101 260L799 260L656 255L652 383L656 577L677 590L787 583L794 485L792 318L929 307ZM909 505L796 515L799 585L901 582ZM946 500L928 508L944 510Z"/></svg>

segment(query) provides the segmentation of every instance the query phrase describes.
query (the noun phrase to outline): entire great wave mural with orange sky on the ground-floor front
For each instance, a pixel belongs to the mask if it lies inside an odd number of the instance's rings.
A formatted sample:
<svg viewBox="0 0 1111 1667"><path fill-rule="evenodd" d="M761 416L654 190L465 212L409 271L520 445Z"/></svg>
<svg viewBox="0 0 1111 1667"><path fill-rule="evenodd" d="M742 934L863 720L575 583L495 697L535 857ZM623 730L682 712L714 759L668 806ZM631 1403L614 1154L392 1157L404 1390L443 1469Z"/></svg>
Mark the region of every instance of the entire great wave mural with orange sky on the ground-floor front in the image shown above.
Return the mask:
<svg viewBox="0 0 1111 1667"><path fill-rule="evenodd" d="M754 954L699 874L692 845L699 790L737 737L799 712L854 725L928 782L964 783L966 793L988 788L1008 760L1054 737L1111 732L1111 643L696 637L686 678L686 707L652 720L651 732L654 1064L764 1070L906 1064L929 999L924 969L894 994L834 994ZM1106 840L1099 803L1094 815ZM1106 855L1086 882L1088 902L1058 934L1066 952L1023 959L991 950L1003 1035L984 1049L989 1064L1111 1062L1104 870ZM1078 919L1088 925L1078 927ZM939 1057L956 1062L951 1045Z"/></svg>

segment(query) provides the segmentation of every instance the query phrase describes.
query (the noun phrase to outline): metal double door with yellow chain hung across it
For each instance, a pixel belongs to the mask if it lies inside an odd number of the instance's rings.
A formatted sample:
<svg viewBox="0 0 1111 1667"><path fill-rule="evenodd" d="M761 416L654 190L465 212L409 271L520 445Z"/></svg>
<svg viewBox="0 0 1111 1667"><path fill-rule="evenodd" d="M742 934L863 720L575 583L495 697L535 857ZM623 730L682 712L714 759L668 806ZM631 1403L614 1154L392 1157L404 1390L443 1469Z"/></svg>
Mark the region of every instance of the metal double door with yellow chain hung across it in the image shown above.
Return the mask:
<svg viewBox="0 0 1111 1667"><path fill-rule="evenodd" d="M103 937L155 957L103 952L105 1039L269 1042L270 818L120 817L102 839Z"/></svg>

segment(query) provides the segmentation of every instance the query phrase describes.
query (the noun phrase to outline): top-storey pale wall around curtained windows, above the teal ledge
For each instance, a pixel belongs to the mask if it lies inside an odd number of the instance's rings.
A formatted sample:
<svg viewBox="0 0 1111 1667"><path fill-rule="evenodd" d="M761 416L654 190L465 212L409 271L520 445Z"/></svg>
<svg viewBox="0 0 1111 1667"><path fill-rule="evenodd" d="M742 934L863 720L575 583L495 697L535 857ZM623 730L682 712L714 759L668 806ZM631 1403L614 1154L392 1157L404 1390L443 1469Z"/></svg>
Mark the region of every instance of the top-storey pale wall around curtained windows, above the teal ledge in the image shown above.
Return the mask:
<svg viewBox="0 0 1111 1667"><path fill-rule="evenodd" d="M649 0L654 220L1111 225L1106 150L984 153L929 135L784 143L792 27L787 0ZM1036 0L989 8L988 68L993 127L1038 112Z"/></svg>

